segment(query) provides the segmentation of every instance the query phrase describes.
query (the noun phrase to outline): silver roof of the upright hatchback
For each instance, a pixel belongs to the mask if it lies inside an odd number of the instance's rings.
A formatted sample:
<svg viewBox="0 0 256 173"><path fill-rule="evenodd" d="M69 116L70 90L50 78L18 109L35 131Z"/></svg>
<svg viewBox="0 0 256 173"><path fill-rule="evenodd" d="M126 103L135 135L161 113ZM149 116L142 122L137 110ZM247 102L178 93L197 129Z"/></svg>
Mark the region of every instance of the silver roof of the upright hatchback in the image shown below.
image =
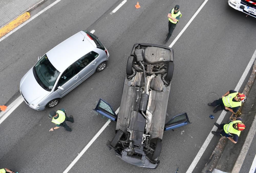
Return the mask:
<svg viewBox="0 0 256 173"><path fill-rule="evenodd" d="M84 39L84 41L83 41ZM64 40L46 53L52 65L59 71L65 71L72 63L96 48L85 32L77 34Z"/></svg>

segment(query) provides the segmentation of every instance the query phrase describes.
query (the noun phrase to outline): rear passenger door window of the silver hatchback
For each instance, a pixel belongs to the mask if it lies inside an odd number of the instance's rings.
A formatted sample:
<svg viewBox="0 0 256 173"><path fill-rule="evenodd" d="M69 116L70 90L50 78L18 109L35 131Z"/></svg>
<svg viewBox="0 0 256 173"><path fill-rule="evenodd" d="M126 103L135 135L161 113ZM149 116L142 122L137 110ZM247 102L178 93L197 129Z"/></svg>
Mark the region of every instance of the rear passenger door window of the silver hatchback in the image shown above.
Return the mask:
<svg viewBox="0 0 256 173"><path fill-rule="evenodd" d="M75 62L78 71L81 71L84 67L88 66L95 58L99 56L98 53L91 51Z"/></svg>

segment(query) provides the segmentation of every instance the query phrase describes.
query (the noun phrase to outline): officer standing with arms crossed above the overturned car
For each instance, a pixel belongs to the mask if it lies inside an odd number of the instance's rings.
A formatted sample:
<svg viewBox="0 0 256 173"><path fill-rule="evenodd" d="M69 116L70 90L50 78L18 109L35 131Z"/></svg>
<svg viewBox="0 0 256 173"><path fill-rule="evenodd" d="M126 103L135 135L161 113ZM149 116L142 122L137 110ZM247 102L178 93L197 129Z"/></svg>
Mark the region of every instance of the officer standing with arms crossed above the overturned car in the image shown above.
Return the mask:
<svg viewBox="0 0 256 173"><path fill-rule="evenodd" d="M179 5L175 5L175 7L170 10L167 16L169 18L169 22L168 22L169 30L168 30L168 34L166 35L167 37L164 40L164 43L166 43L169 40L169 38L172 36L173 30L176 27L180 17L182 16L179 11Z"/></svg>

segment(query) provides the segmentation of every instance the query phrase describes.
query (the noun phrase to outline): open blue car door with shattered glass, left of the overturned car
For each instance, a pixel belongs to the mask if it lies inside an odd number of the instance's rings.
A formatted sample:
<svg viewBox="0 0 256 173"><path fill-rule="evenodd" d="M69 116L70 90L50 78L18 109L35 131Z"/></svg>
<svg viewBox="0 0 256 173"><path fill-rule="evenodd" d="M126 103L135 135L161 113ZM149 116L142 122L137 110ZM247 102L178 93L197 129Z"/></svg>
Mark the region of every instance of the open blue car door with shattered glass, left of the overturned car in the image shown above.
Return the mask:
<svg viewBox="0 0 256 173"><path fill-rule="evenodd" d="M98 113L100 113L101 115L109 118L112 121L116 121L117 120L117 115L115 114L114 110L112 109L110 104L108 104L103 99L99 100L97 106L93 110L98 112Z"/></svg>

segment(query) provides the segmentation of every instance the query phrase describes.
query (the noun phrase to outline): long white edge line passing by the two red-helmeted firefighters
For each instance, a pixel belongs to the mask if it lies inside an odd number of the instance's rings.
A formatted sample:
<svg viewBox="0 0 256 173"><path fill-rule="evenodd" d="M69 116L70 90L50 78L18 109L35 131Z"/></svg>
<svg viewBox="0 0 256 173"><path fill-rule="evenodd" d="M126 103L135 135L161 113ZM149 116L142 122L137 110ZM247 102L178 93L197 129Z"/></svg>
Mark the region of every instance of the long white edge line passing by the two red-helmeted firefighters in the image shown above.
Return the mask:
<svg viewBox="0 0 256 173"><path fill-rule="evenodd" d="M255 58L256 58L256 50L254 51L251 60L249 61L249 63L248 63L248 65L247 65L246 69L245 69L244 72L243 72L242 77L240 78L240 80L239 80L239 82L238 82L238 84L237 84L237 86L236 86L236 88L235 88L236 91L239 91L239 89L240 89L242 83L244 82L244 79L246 78L246 76L247 76L247 74L248 74L248 72L249 72L249 70L250 70L250 68L251 68L251 66L252 66L252 64L253 64L253 62L255 61ZM227 113L226 111L222 111L222 112L221 112L221 114L220 114L220 116L219 116L219 118L218 118L218 120L217 120L217 123L218 123L218 124L220 124L220 123L222 122L222 120L223 120L224 116L226 115L226 113ZM216 130L217 130L217 127L214 126L211 131L216 131ZM188 170L187 170L186 173L190 173L190 172L192 172L192 171L195 169L195 167L196 167L196 165L197 165L199 159L201 158L201 156L202 156L203 153L205 152L205 149L206 149L207 146L209 145L209 143L210 143L212 137L213 137L213 134L210 132L209 135L207 136L207 138L206 138L204 144L202 145L202 147L200 148L200 150L199 150L199 152L197 153L196 157L194 158L193 162L192 162L191 165L189 166L189 168L188 168Z"/></svg>

